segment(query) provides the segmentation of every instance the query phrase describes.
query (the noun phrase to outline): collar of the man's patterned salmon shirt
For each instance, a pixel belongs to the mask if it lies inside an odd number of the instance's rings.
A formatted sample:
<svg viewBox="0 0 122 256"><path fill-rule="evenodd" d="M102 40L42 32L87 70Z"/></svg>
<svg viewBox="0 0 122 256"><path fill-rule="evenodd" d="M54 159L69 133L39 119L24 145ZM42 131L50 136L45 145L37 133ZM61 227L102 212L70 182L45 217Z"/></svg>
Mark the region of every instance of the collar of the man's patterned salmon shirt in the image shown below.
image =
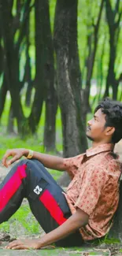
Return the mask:
<svg viewBox="0 0 122 256"><path fill-rule="evenodd" d="M98 154L104 151L113 151L114 144L112 143L105 143L102 145L99 145L97 147L91 147L90 149L86 150L87 157L91 157L94 154Z"/></svg>

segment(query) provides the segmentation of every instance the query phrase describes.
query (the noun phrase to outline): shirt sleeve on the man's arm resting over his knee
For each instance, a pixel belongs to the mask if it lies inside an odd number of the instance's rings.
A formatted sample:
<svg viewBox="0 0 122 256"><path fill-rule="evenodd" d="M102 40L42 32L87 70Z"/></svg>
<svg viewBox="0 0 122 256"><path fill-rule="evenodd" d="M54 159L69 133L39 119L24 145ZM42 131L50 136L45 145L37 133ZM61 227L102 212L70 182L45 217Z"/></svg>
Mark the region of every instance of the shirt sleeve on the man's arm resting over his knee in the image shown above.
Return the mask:
<svg viewBox="0 0 122 256"><path fill-rule="evenodd" d="M79 165L83 160L83 154L79 154L73 158L64 158L65 170L68 172L69 176L73 178L78 172Z"/></svg>

